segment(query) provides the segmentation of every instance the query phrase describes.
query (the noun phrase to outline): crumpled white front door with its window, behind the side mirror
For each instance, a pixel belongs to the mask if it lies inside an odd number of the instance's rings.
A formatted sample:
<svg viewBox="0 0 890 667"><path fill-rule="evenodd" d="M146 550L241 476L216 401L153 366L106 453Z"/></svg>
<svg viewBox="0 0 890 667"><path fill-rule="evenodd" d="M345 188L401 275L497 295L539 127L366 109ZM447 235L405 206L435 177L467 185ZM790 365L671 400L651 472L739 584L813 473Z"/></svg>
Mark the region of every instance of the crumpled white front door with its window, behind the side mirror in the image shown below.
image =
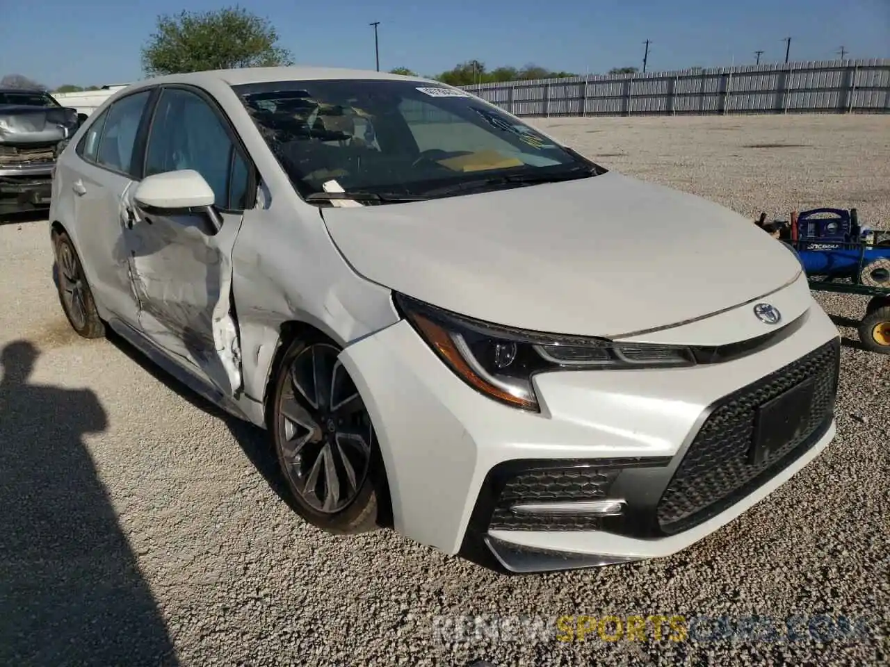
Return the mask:
<svg viewBox="0 0 890 667"><path fill-rule="evenodd" d="M200 173L214 211L158 212L126 193L125 228L142 332L226 395L241 386L238 329L231 299L231 253L247 193L255 182L247 151L205 92L164 86L151 120L144 176Z"/></svg>

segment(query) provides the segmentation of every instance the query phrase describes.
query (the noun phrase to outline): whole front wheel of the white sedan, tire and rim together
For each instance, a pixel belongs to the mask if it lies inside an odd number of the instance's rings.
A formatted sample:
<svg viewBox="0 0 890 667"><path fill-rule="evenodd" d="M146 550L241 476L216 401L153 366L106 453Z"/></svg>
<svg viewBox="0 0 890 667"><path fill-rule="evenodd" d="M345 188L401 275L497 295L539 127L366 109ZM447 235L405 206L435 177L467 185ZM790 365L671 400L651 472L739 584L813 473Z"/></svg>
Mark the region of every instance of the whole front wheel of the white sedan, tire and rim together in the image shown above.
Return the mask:
<svg viewBox="0 0 890 667"><path fill-rule="evenodd" d="M328 533L358 534L382 526L388 492L376 431L336 360L340 351L320 335L287 345L276 366L269 432L296 513ZM333 390L318 391L325 387Z"/></svg>

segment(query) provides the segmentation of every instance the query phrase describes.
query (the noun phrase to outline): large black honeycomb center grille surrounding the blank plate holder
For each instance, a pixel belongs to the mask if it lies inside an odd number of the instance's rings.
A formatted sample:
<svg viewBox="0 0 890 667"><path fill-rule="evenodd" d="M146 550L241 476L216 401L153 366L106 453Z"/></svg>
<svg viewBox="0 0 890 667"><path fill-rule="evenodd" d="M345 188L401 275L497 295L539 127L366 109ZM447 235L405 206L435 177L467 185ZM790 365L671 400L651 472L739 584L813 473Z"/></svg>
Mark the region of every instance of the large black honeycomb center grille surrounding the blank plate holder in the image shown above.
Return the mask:
<svg viewBox="0 0 890 667"><path fill-rule="evenodd" d="M695 526L723 511L804 454L829 427L837 393L837 339L724 398L702 424L658 506L664 533ZM748 463L756 408L814 378L805 429L759 464Z"/></svg>

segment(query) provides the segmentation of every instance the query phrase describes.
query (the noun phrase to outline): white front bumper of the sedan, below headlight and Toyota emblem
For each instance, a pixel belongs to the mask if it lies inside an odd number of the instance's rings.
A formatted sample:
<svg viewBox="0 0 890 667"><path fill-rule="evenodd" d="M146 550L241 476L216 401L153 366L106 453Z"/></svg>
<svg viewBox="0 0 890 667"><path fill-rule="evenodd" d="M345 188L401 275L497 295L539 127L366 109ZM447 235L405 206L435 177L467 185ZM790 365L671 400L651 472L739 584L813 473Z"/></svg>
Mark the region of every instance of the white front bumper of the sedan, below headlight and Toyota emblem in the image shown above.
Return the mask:
<svg viewBox="0 0 890 667"><path fill-rule="evenodd" d="M731 361L538 375L542 414L470 389L407 322L354 343L341 358L376 424L395 528L525 572L683 550L781 486L834 437L837 329L807 298L809 309L781 335ZM731 327L748 310L717 317ZM684 334L677 327L672 335ZM748 463L756 406L808 377L815 389L805 432ZM621 514L572 510L603 499L622 500ZM514 507L541 502L569 503L569 511Z"/></svg>

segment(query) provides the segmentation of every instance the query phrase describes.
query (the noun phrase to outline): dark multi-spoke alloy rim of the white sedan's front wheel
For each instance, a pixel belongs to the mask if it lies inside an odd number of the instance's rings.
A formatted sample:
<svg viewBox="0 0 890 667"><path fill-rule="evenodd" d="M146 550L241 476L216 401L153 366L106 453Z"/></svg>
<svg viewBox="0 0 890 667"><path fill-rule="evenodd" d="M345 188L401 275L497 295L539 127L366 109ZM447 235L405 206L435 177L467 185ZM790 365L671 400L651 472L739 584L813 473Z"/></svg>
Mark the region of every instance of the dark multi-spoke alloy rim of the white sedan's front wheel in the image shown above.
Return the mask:
<svg viewBox="0 0 890 667"><path fill-rule="evenodd" d="M374 428L340 350L314 343L287 369L279 395L284 469L312 510L335 514L355 500L368 476Z"/></svg>

